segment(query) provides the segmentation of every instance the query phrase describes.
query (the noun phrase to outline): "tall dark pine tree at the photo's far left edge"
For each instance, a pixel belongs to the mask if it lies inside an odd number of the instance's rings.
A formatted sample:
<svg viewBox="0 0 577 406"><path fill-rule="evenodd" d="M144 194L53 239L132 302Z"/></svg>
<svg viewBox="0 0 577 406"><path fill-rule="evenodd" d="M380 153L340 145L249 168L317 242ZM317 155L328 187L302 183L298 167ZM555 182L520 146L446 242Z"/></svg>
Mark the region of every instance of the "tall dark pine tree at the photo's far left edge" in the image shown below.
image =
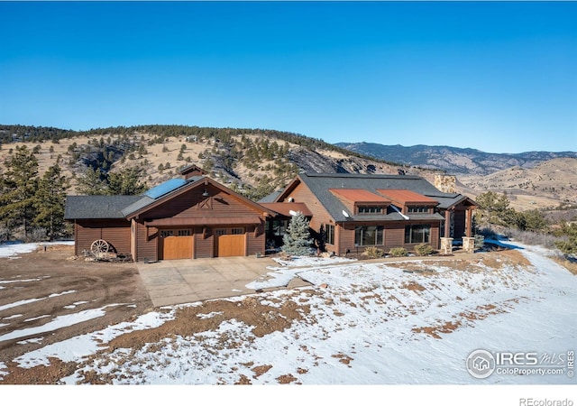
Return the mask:
<svg viewBox="0 0 577 406"><path fill-rule="evenodd" d="M38 185L38 160L23 145L16 147L16 152L5 160L5 168L1 181L0 219L9 232L16 226L23 226L24 237L27 237L36 216L34 195Z"/></svg>

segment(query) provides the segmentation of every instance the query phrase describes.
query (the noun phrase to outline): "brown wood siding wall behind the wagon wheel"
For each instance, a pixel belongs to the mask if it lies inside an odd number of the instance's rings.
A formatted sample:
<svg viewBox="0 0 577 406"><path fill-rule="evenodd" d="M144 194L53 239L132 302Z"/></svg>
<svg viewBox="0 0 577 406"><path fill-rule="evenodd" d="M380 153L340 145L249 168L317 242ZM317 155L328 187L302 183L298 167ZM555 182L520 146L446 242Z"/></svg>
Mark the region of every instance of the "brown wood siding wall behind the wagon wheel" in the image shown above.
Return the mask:
<svg viewBox="0 0 577 406"><path fill-rule="evenodd" d="M130 254L130 222L124 219L77 220L75 223L75 254L90 251L96 240L105 240L118 254Z"/></svg>

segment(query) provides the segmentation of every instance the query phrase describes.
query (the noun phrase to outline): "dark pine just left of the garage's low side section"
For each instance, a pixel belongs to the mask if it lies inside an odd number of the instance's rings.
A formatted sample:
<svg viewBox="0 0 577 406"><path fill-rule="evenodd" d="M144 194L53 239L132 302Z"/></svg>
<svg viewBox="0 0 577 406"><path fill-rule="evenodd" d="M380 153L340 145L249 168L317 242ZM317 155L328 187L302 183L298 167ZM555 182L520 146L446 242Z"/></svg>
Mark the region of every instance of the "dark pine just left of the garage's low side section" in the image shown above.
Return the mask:
<svg viewBox="0 0 577 406"><path fill-rule="evenodd" d="M50 240L59 237L64 231L64 205L67 189L69 189L69 181L62 175L58 163L50 166L38 182L34 201L37 210L34 223L46 229L46 235Z"/></svg>

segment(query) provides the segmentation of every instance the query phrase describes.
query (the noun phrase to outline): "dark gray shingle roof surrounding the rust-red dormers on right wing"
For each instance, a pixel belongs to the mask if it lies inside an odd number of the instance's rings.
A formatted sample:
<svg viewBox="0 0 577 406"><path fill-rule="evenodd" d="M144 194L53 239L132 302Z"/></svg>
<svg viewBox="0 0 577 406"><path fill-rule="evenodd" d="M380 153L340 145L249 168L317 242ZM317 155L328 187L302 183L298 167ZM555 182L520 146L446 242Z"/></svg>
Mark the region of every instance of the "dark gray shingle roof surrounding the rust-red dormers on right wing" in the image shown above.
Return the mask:
<svg viewBox="0 0 577 406"><path fill-rule="evenodd" d="M377 189L408 189L429 198L434 198L439 202L437 208L449 208L454 203L465 198L459 193L443 193L419 176L307 172L301 173L299 177L307 185L308 189L311 189L316 195L335 221L351 220L353 213L348 213L348 209L344 207L341 200L336 198L329 189L364 189L375 194L379 194ZM343 210L349 214L349 217L343 215ZM429 219L417 214L408 216L415 219ZM435 220L442 219L440 215L428 215L428 217L432 217L430 219ZM368 219L365 215L362 218ZM360 218L357 216L356 219L359 220ZM402 217L396 213L391 213L387 216L380 216L380 219L392 220L402 219Z"/></svg>

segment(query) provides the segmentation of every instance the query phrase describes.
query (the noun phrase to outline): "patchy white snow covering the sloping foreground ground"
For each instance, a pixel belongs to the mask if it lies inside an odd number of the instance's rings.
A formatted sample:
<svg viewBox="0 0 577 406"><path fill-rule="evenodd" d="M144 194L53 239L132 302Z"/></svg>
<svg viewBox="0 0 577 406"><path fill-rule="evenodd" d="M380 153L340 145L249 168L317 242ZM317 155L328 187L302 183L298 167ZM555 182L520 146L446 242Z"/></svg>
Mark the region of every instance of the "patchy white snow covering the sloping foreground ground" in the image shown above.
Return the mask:
<svg viewBox="0 0 577 406"><path fill-rule="evenodd" d="M253 296L270 307L288 301L298 305L301 317L282 331L257 337L254 326L231 318L188 337L102 351L114 337L175 318L182 306L174 306L44 346L14 362L30 368L49 364L50 357L76 361L78 371L62 381L68 384L80 383L81 373L91 371L119 384L233 384L242 377L253 384L277 384L284 377L313 385L569 385L556 387L563 394L577 383L570 363L577 349L577 276L554 263L543 248L517 248L532 266L495 269L481 259L467 270L421 259L411 261L411 267L407 262L280 263L275 278L298 272L314 285ZM426 272L415 272L416 264ZM78 318L98 317L102 311L78 313ZM520 362L501 363L501 371L479 379L467 370L468 355L479 349L517 355ZM537 365L531 364L534 357ZM0 364L0 379L3 368ZM527 396L535 393L527 391Z"/></svg>

